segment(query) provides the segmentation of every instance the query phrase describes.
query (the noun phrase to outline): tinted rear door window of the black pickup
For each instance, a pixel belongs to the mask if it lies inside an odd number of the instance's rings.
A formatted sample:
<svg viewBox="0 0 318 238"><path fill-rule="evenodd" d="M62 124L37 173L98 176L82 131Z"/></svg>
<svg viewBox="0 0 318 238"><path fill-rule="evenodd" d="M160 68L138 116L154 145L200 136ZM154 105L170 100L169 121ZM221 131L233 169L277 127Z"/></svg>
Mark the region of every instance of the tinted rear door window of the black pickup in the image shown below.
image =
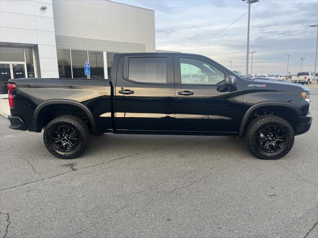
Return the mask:
<svg viewBox="0 0 318 238"><path fill-rule="evenodd" d="M129 58L128 79L142 83L167 82L166 57Z"/></svg>

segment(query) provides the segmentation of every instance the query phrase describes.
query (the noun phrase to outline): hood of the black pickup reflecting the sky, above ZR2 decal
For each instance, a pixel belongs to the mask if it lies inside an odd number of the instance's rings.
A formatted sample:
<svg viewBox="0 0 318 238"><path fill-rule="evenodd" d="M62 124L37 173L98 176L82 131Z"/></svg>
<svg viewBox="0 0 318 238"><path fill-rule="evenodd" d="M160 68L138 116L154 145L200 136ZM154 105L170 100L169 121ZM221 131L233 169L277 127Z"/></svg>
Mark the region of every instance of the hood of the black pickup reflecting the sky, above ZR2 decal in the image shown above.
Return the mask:
<svg viewBox="0 0 318 238"><path fill-rule="evenodd" d="M275 88L281 91L310 92L310 90L302 84L283 80L255 78L255 80L251 80L250 82L251 84L264 84L267 88Z"/></svg>

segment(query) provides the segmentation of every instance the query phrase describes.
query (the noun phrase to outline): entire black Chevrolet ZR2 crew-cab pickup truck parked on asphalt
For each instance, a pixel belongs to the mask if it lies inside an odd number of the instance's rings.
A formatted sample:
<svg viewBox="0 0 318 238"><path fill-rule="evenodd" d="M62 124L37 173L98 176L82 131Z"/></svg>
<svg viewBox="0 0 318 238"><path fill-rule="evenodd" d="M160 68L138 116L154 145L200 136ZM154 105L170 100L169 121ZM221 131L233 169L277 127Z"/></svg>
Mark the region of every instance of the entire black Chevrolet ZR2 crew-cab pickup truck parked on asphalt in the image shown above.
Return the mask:
<svg viewBox="0 0 318 238"><path fill-rule="evenodd" d="M111 80L10 79L8 92L9 127L45 128L45 146L62 159L105 132L244 136L256 157L279 159L312 123L308 88L244 79L192 54L117 54Z"/></svg>

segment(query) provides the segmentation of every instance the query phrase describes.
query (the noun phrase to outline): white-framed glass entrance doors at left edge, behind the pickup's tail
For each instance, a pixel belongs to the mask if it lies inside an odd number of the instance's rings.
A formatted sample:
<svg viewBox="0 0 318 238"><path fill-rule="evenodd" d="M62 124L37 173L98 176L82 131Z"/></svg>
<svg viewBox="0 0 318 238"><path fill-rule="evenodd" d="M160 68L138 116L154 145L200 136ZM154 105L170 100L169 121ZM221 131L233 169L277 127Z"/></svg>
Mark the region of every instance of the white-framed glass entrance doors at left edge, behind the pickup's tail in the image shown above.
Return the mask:
<svg viewBox="0 0 318 238"><path fill-rule="evenodd" d="M25 78L25 62L0 62L0 94L8 96L6 85L10 78Z"/></svg>

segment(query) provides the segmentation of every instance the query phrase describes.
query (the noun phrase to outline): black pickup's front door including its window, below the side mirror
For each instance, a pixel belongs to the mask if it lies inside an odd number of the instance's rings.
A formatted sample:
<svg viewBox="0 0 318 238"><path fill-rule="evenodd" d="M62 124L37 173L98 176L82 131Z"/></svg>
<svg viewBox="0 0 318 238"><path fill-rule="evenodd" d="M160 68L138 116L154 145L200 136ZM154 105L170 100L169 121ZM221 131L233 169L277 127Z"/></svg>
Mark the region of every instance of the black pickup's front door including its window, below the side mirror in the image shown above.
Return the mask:
<svg viewBox="0 0 318 238"><path fill-rule="evenodd" d="M230 90L224 84L226 73L207 58L174 57L174 72L175 130L217 133L237 130L242 105L240 85Z"/></svg>

